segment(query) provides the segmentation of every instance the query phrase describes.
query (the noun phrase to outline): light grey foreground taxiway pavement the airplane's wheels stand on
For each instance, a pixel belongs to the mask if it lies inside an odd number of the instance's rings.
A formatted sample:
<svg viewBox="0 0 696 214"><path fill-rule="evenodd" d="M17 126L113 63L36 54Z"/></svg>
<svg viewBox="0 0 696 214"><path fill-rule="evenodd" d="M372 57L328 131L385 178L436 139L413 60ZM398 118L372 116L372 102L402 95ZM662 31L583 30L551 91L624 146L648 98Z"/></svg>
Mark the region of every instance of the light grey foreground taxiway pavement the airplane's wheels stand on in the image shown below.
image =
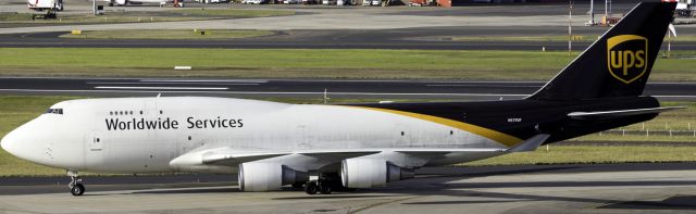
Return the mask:
<svg viewBox="0 0 696 214"><path fill-rule="evenodd" d="M240 192L223 182L64 185L0 196L11 213L696 213L694 163L423 168L384 188L308 196L285 189ZM67 178L64 178L66 180ZM132 184L136 182L136 184ZM3 180L0 192L21 189ZM158 185L159 184L159 185ZM53 189L62 189L55 192ZM37 203L40 202L40 203Z"/></svg>

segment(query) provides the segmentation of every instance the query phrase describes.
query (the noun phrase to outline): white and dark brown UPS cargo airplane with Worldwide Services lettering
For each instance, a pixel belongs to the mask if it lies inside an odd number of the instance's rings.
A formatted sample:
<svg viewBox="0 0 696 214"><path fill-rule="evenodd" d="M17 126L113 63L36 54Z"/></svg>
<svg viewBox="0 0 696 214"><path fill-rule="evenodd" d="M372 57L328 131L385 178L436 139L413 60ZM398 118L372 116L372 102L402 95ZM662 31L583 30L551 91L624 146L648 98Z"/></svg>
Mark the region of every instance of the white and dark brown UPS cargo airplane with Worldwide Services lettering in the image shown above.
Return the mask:
<svg viewBox="0 0 696 214"><path fill-rule="evenodd" d="M678 109L642 96L675 3L644 2L535 93L485 102L286 104L153 97L70 100L2 148L78 172L237 174L243 191L331 193L413 177L423 166L533 151Z"/></svg>

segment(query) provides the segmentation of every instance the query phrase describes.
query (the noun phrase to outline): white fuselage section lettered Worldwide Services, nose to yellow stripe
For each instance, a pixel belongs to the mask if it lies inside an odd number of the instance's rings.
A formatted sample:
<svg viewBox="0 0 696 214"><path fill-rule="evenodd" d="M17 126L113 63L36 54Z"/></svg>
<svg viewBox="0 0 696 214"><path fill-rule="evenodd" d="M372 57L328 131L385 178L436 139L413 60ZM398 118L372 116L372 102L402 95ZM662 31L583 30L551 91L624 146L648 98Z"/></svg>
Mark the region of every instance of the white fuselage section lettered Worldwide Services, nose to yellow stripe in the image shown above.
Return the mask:
<svg viewBox="0 0 696 214"><path fill-rule="evenodd" d="M507 148L450 126L345 105L181 97L72 100L51 110L9 134L2 147L44 165L110 173L175 172L170 162L177 156L215 148L269 152Z"/></svg>

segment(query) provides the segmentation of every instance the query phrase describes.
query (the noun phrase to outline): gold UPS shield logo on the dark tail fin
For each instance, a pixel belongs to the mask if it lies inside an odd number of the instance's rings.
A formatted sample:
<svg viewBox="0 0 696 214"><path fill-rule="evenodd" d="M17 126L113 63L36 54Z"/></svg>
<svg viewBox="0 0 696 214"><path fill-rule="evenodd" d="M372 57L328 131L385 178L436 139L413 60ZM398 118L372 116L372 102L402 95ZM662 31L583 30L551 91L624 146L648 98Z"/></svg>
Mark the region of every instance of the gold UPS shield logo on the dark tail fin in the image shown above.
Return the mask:
<svg viewBox="0 0 696 214"><path fill-rule="evenodd" d="M611 75L631 84L648 67L648 39L637 35L620 35L607 39L607 66Z"/></svg>

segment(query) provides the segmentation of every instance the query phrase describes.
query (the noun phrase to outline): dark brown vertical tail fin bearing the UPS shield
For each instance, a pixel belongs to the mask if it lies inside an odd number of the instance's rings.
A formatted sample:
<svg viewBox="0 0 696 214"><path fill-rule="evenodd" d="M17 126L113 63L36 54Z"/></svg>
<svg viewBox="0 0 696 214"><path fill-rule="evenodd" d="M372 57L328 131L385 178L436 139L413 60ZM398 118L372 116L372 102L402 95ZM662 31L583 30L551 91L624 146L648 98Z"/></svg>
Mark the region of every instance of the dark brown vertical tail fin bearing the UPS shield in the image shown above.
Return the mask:
<svg viewBox="0 0 696 214"><path fill-rule="evenodd" d="M527 99L641 96L672 22L675 2L642 2Z"/></svg>

